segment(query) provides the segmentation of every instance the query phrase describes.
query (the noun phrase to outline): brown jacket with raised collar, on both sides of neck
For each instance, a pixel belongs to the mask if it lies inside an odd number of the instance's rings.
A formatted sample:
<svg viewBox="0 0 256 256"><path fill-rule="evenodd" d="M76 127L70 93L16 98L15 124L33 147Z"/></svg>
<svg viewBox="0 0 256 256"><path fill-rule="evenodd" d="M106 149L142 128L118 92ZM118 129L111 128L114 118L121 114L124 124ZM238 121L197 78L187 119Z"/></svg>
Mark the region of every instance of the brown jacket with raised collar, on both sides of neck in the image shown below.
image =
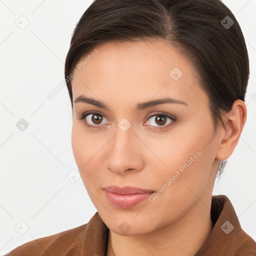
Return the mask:
<svg viewBox="0 0 256 256"><path fill-rule="evenodd" d="M228 197L213 195L210 214L214 227L195 256L256 256L256 243L241 229ZM96 212L86 224L26 242L6 255L103 256L108 232Z"/></svg>

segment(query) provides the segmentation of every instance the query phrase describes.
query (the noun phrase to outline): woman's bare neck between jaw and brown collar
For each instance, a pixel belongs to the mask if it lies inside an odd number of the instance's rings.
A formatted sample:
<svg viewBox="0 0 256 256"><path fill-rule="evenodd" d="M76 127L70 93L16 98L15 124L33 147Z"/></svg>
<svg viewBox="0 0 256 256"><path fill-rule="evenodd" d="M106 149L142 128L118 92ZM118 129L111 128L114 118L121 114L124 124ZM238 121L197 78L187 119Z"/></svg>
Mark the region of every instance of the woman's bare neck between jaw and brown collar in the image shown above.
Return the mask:
<svg viewBox="0 0 256 256"><path fill-rule="evenodd" d="M210 202L205 205L198 200L175 223L150 233L125 236L109 230L107 256L194 256L212 230Z"/></svg>

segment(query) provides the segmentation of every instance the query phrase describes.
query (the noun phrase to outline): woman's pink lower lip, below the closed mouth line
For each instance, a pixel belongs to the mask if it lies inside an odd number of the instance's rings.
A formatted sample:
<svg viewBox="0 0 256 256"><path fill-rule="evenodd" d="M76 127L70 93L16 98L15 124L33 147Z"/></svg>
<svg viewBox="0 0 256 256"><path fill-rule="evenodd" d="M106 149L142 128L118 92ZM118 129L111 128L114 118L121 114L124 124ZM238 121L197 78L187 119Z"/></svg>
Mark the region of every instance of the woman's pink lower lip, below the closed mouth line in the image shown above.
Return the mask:
<svg viewBox="0 0 256 256"><path fill-rule="evenodd" d="M117 194L104 190L106 198L116 207L129 208L148 198L154 192L140 194Z"/></svg>

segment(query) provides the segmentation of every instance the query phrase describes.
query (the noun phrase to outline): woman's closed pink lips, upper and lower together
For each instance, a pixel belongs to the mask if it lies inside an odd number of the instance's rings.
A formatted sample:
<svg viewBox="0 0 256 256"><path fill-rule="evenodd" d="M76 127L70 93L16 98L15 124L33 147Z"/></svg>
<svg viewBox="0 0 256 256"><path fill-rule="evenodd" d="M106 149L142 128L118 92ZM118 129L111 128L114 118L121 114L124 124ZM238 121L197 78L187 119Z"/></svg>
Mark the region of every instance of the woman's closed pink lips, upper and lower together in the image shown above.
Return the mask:
<svg viewBox="0 0 256 256"><path fill-rule="evenodd" d="M120 208L133 207L154 193L152 190L134 186L106 186L103 189L107 200Z"/></svg>

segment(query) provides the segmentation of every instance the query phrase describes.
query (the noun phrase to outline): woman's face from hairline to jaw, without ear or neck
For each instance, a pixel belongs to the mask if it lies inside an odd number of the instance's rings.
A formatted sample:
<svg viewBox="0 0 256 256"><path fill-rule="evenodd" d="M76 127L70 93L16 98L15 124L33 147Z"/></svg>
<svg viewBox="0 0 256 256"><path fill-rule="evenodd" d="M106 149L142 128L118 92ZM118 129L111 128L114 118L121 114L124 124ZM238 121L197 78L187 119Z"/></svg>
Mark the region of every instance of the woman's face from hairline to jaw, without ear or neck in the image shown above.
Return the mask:
<svg viewBox="0 0 256 256"><path fill-rule="evenodd" d="M74 72L71 140L102 220L116 233L143 234L205 210L219 136L189 59L164 40L108 42L96 49ZM164 98L173 100L145 104ZM105 192L109 185L155 192L138 202Z"/></svg>

